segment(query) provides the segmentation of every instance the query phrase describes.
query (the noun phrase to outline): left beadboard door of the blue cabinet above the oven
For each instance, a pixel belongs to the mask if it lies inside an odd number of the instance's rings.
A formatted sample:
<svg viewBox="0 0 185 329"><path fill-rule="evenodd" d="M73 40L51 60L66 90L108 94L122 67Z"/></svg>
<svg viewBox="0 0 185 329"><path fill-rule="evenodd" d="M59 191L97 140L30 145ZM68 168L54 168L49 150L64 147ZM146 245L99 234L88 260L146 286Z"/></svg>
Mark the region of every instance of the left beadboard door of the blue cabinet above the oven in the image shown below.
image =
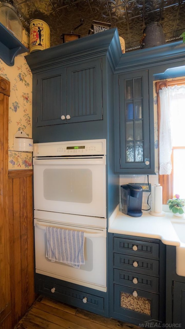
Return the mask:
<svg viewBox="0 0 185 329"><path fill-rule="evenodd" d="M36 98L37 127L66 123L66 68L37 74Z"/></svg>

